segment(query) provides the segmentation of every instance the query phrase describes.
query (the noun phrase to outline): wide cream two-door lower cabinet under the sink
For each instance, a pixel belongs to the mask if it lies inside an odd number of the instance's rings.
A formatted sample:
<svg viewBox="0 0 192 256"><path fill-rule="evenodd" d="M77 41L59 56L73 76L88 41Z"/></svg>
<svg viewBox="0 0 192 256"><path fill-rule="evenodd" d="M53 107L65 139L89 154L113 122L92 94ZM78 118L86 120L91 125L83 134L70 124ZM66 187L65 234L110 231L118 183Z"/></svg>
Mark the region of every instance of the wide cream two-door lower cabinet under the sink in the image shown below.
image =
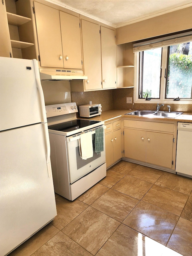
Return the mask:
<svg viewBox="0 0 192 256"><path fill-rule="evenodd" d="M141 130L142 126L148 131ZM174 124L124 120L125 157L175 169L175 135Z"/></svg>

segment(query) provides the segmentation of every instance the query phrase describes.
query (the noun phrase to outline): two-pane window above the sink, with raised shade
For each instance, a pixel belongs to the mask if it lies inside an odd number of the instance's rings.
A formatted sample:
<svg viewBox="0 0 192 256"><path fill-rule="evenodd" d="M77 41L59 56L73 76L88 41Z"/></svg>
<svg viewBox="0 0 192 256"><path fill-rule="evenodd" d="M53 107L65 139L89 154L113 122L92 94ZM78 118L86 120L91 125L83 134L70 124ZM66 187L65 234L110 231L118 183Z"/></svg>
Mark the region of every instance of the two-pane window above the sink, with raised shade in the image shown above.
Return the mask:
<svg viewBox="0 0 192 256"><path fill-rule="evenodd" d="M169 38L168 38L169 39ZM190 40L189 40L190 39ZM135 100L152 102L192 99L192 41L187 37L134 44ZM186 41L189 40L189 41ZM178 44L175 44L178 42ZM139 46L138 46L139 45ZM163 46L163 47L162 47Z"/></svg>

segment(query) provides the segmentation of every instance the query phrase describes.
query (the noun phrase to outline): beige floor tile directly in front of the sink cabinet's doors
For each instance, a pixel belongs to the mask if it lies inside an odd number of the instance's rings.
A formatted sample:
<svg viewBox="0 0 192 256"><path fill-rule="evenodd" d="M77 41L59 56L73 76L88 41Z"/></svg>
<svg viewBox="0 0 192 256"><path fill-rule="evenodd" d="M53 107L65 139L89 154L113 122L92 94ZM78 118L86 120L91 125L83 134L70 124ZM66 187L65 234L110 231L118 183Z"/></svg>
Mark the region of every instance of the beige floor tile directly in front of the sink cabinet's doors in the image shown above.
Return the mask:
<svg viewBox="0 0 192 256"><path fill-rule="evenodd" d="M128 175L151 183L155 183L163 173L164 172L161 170L138 165Z"/></svg>

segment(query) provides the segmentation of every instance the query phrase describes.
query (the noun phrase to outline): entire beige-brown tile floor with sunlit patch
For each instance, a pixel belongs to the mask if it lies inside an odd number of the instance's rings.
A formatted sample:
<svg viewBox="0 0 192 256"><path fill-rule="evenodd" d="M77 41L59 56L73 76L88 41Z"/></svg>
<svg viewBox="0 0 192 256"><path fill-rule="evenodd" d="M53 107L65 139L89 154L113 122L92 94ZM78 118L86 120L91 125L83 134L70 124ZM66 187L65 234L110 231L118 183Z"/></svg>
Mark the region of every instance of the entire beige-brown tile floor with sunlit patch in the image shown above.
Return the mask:
<svg viewBox="0 0 192 256"><path fill-rule="evenodd" d="M192 255L192 179L122 160L73 202L55 198L55 219L9 256Z"/></svg>

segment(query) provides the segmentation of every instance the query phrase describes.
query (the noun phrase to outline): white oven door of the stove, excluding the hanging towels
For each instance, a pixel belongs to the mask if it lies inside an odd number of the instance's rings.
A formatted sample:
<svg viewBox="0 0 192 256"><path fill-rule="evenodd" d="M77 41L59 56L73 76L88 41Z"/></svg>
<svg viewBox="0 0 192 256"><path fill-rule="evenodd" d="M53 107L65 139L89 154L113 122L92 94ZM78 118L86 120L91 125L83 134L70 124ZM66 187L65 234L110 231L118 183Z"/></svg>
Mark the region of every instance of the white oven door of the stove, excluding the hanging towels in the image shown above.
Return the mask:
<svg viewBox="0 0 192 256"><path fill-rule="evenodd" d="M93 156L86 160L83 160L79 154L80 134L75 134L66 138L70 183L73 183L105 162L105 136L104 151L96 153L95 129L91 129L88 132L92 133Z"/></svg>

